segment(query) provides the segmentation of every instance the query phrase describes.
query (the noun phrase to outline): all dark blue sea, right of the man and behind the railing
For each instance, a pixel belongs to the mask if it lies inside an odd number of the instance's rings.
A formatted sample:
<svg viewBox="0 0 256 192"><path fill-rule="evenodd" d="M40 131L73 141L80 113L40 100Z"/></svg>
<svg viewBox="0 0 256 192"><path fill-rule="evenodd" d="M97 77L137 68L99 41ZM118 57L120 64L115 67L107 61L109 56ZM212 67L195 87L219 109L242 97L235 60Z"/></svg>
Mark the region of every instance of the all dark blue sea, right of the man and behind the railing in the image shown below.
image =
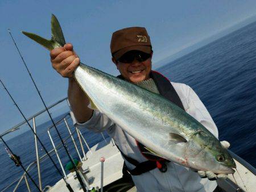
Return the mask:
<svg viewBox="0 0 256 192"><path fill-rule="evenodd" d="M218 127L220 140L229 141L230 149L254 167L256 167L255 31L256 22L158 69L171 81L182 82L196 91ZM70 119L68 122L71 126ZM38 126L38 135L47 149L51 149L46 133L46 128L50 124L46 122ZM67 136L67 128L64 124L59 125L59 130L61 136ZM56 132L52 131L52 133L53 140L57 142ZM82 130L82 133L90 146L102 140L99 133L87 130ZM25 132L7 143L14 153L21 157L25 167L35 160L34 136L31 132ZM77 157L71 140L67 140L66 143L71 155ZM65 165L68 157L63 148L59 152ZM43 151L40 151L40 154L43 154ZM56 156L52 157L57 162ZM0 169L2 176L0 177L0 190L23 173L22 169L16 168L13 161L6 155L2 144L0 144ZM61 178L48 159L42 162L41 170L43 186L54 185ZM30 173L37 182L36 168ZM32 190L35 190L32 183L30 186ZM12 191L13 187L7 191ZM26 185L23 181L18 191L24 190L26 190Z"/></svg>

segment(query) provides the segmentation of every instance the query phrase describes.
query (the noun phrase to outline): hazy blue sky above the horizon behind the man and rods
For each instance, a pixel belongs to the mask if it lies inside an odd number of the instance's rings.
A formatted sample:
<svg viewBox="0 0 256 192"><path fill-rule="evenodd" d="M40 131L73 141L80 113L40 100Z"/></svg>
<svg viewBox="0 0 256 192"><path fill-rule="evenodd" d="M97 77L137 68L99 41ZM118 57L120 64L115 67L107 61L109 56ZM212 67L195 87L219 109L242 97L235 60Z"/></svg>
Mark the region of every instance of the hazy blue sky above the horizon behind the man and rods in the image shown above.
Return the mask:
<svg viewBox="0 0 256 192"><path fill-rule="evenodd" d="M152 68L189 46L255 16L255 0L216 1L0 1L0 79L26 117L43 109L42 102L7 31L31 71L47 106L67 97L67 78L53 70L47 49L20 31L51 37L51 14L59 19L65 40L85 64L117 75L111 61L112 33L125 27L146 27L154 51ZM68 110L61 105L57 116ZM36 119L40 124L47 116ZM0 133L24 119L0 86ZM48 119L47 119L48 120Z"/></svg>

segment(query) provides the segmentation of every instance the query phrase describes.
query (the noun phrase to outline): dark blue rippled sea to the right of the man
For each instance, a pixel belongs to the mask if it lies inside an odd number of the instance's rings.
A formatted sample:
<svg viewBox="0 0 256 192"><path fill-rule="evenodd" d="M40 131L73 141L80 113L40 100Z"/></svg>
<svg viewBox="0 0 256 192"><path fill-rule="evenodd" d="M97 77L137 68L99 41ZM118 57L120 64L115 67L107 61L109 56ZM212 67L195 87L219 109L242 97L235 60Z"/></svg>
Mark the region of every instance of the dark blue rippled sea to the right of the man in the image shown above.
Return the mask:
<svg viewBox="0 0 256 192"><path fill-rule="evenodd" d="M192 87L207 107L219 139L256 167L256 22L159 69Z"/></svg>

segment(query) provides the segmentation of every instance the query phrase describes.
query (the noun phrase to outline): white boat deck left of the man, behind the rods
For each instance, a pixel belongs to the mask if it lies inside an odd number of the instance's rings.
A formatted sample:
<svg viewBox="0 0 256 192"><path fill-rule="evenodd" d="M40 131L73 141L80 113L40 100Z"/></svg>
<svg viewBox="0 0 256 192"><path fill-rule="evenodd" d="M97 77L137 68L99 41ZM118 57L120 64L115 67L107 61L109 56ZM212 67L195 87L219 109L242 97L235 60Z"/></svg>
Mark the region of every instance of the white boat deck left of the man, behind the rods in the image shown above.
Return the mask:
<svg viewBox="0 0 256 192"><path fill-rule="evenodd" d="M103 156L104 155L104 156ZM122 178L123 158L121 153L113 145L110 139L101 141L91 148L91 152L86 153L87 160L82 161L82 169L86 170L89 168L89 172L86 173L86 177L89 180L90 187L101 186L101 162L100 158L105 157L104 162L104 186ZM69 173L67 175L67 182L71 185L74 191L82 191L80 183L75 179L75 173ZM58 181L52 186L49 191L67 191L65 182L62 180Z"/></svg>

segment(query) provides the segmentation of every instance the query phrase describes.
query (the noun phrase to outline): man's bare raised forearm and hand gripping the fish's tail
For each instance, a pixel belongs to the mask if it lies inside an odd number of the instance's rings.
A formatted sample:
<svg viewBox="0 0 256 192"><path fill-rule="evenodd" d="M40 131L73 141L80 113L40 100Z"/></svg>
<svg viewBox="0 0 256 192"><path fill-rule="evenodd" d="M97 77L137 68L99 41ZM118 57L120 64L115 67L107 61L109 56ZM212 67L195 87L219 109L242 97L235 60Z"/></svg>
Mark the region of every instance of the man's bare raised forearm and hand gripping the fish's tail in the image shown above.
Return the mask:
<svg viewBox="0 0 256 192"><path fill-rule="evenodd" d="M53 69L61 76L69 78L68 100L77 122L86 122L92 117L93 110L88 107L88 97L73 78L73 72L80 64L79 57L73 51L73 45L65 44L64 47L55 48L50 52L50 56Z"/></svg>

